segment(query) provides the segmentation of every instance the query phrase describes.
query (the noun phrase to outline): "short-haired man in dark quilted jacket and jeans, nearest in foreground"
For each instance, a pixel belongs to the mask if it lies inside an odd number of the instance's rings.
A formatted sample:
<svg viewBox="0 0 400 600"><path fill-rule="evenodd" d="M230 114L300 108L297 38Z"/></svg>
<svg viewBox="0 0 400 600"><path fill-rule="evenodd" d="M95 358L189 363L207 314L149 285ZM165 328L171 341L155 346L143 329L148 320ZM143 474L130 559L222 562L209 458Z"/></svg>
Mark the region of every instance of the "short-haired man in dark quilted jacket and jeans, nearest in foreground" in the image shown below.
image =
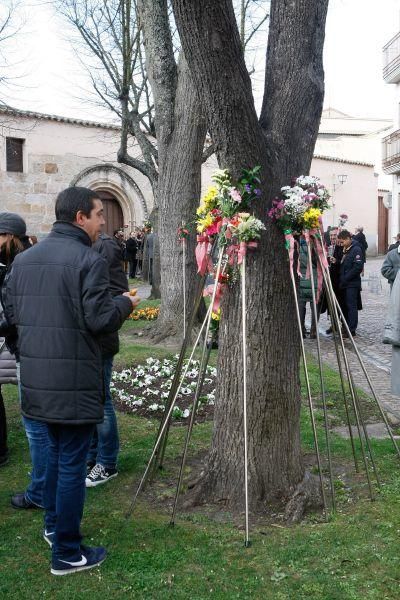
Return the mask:
<svg viewBox="0 0 400 600"><path fill-rule="evenodd" d="M14 260L5 304L18 328L22 414L48 425L44 538L51 573L64 575L106 556L80 535L86 456L103 420L99 335L117 331L138 301L111 296L106 261L91 248L104 225L96 193L64 190L56 218L50 235Z"/></svg>

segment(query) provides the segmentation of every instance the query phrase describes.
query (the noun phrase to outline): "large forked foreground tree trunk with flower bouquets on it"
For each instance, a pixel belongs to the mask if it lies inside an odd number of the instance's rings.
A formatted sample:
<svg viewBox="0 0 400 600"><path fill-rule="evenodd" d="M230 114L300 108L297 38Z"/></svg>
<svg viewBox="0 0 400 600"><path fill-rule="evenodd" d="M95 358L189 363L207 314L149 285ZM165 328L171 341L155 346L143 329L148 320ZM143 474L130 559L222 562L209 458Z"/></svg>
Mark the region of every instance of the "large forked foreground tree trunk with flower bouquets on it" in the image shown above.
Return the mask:
<svg viewBox="0 0 400 600"><path fill-rule="evenodd" d="M239 176L262 167L266 219L271 198L307 173L322 110L322 48L328 0L275 0L271 7L266 95L257 120L231 0L173 0L191 74L221 167ZM299 339L284 240L267 224L248 260L248 442L251 505L287 499L304 476L300 449ZM241 509L243 409L238 286L222 305L217 402L209 468L200 500Z"/></svg>

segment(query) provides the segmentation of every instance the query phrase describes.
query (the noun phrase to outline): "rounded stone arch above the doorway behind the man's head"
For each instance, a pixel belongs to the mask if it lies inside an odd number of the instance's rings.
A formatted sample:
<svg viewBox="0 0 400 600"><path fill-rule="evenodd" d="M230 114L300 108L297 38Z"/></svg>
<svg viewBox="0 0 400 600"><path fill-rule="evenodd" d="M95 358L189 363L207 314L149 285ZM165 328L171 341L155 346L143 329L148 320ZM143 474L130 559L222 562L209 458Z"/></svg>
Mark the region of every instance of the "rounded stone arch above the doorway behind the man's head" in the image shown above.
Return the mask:
<svg viewBox="0 0 400 600"><path fill-rule="evenodd" d="M130 227L142 225L148 219L149 210L141 189L121 167L107 163L93 165L78 173L70 185L110 192L122 208L124 223Z"/></svg>

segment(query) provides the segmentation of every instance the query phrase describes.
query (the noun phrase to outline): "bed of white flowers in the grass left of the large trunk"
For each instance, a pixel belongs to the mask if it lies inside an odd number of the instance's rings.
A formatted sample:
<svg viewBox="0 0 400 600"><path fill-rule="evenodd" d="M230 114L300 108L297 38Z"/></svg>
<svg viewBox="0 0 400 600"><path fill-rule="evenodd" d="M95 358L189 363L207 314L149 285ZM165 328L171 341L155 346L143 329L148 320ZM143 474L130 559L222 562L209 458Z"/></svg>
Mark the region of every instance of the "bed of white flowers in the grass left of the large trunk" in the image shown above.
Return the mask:
<svg viewBox="0 0 400 600"><path fill-rule="evenodd" d="M163 361L148 358L143 365L114 371L111 392L116 407L123 412L161 418L168 400L177 359L178 355L171 360ZM184 364L186 365L187 361ZM190 416L198 373L199 361L192 361L172 414L175 421L185 421ZM205 420L213 415L216 375L216 368L208 366L197 412L198 420Z"/></svg>

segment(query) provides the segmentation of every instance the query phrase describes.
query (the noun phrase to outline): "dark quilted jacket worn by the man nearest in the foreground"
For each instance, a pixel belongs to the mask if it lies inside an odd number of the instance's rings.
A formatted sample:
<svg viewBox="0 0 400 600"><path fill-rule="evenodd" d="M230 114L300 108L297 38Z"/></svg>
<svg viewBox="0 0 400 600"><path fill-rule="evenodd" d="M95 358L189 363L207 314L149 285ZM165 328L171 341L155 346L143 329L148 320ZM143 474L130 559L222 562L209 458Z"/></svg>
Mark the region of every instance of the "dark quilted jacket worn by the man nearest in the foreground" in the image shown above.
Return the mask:
<svg viewBox="0 0 400 600"><path fill-rule="evenodd" d="M117 331L129 298L109 292L106 261L87 234L56 222L40 244L16 257L5 309L18 327L22 413L48 423L103 420L98 335Z"/></svg>

